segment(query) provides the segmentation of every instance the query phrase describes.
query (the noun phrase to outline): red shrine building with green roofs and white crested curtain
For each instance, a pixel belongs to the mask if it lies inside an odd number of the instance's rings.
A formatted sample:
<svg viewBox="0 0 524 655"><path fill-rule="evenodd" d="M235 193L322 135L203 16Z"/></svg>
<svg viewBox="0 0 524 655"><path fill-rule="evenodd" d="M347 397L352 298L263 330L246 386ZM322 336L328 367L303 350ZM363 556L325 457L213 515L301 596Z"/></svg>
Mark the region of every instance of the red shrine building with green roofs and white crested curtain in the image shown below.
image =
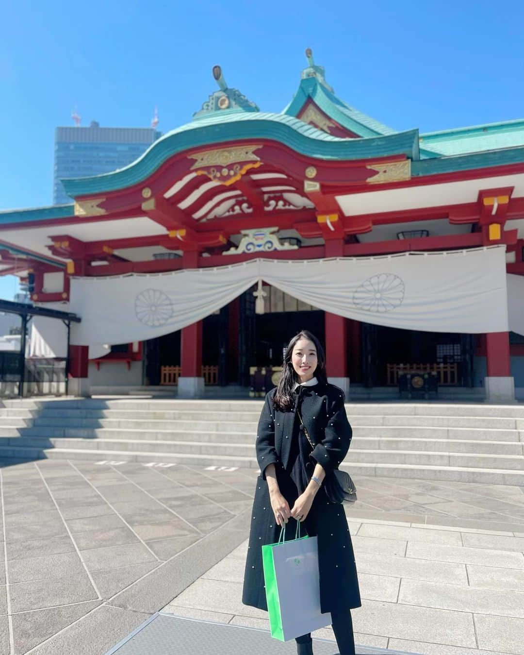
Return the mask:
<svg viewBox="0 0 524 655"><path fill-rule="evenodd" d="M67 343L35 316L28 360L69 354L77 395L249 397L309 329L352 400L398 398L410 371L446 398L524 400L524 119L398 132L306 57L281 113L215 66L135 162L63 179L71 204L0 212L0 274L80 318Z"/></svg>

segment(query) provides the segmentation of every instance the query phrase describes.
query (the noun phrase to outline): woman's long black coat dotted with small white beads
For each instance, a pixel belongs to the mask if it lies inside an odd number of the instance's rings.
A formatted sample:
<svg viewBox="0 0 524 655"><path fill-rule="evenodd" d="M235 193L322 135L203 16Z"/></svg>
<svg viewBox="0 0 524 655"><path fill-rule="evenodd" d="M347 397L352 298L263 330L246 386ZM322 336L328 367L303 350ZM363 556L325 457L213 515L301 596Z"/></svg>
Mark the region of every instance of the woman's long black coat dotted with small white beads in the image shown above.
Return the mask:
<svg viewBox="0 0 524 655"><path fill-rule="evenodd" d="M285 412L273 408L271 398L275 390L273 388L266 394L256 433L256 458L261 473L256 478L242 594L244 605L262 610L267 610L268 606L261 546L275 544L281 532L271 508L266 466L275 464L279 488L290 509L299 495L287 473L296 412L294 407ZM338 468L351 442L352 431L345 413L343 391L334 384L319 382L313 386L302 386L300 394L300 415L315 443L309 462L305 462L307 474L311 477L315 462L319 462L327 476ZM309 534L318 537L321 611L360 607L357 567L344 508L341 504L328 501L324 486L317 491L311 510L300 528L302 536ZM294 538L295 533L296 521L290 518L286 525L286 540Z"/></svg>

